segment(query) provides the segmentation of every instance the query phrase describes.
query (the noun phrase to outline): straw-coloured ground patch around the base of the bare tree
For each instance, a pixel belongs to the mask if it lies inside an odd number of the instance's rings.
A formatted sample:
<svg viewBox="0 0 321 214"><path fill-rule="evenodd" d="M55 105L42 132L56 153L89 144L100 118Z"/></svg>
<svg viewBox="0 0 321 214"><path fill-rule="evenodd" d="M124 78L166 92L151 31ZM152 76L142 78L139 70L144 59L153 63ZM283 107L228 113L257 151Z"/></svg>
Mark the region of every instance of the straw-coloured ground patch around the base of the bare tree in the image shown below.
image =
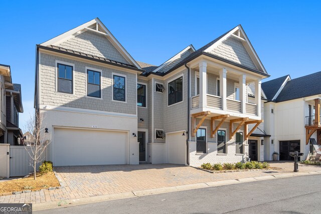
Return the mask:
<svg viewBox="0 0 321 214"><path fill-rule="evenodd" d="M0 182L0 194L25 190L35 191L60 186L54 172L48 172L43 175L37 173L36 177L36 180L34 180L33 175L30 175L26 178L2 181Z"/></svg>

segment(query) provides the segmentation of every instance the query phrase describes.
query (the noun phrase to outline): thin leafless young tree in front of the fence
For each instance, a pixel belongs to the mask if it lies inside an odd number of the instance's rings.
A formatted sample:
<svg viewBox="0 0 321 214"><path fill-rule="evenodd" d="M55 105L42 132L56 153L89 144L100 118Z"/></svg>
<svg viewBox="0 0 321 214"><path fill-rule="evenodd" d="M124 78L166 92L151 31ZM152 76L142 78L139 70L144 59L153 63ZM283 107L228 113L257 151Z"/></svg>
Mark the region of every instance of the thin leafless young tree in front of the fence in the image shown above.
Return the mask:
<svg viewBox="0 0 321 214"><path fill-rule="evenodd" d="M51 137L45 133L46 128L43 126L43 120L44 113L39 111L35 115L31 115L26 124L26 131L29 131L30 135L24 144L30 156L30 165L34 169L35 180L37 163L44 160L46 148L51 142Z"/></svg>

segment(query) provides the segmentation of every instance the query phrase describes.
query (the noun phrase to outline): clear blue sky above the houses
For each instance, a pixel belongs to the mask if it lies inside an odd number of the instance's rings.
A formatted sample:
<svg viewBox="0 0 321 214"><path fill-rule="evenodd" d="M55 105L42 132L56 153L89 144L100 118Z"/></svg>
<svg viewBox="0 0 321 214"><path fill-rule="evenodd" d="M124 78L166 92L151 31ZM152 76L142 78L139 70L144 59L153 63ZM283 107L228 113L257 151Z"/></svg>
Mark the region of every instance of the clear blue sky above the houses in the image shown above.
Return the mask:
<svg viewBox="0 0 321 214"><path fill-rule="evenodd" d="M137 61L159 65L193 44L196 49L241 24L268 79L321 71L319 1L1 1L0 64L22 84L33 112L35 50L98 17Z"/></svg>

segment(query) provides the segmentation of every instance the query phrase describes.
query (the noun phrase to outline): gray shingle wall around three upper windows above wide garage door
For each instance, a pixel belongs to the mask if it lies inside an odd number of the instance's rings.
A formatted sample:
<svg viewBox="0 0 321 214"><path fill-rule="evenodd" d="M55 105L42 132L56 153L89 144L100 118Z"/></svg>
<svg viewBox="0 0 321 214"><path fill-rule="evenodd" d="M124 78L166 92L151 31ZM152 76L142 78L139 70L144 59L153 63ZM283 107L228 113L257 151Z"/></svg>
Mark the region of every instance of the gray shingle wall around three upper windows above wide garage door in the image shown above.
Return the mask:
<svg viewBox="0 0 321 214"><path fill-rule="evenodd" d="M73 94L56 92L55 60L75 64ZM43 53L40 62L40 104L136 114L135 74ZM86 66L102 70L102 99L86 97ZM112 72L126 75L126 103L112 101Z"/></svg>

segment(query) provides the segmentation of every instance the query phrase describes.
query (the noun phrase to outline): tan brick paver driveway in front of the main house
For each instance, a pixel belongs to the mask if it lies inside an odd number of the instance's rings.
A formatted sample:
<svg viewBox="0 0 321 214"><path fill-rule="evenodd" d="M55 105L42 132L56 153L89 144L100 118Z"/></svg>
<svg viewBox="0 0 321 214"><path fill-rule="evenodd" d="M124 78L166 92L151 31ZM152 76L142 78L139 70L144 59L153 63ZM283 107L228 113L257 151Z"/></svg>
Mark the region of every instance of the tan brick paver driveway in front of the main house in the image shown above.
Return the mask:
<svg viewBox="0 0 321 214"><path fill-rule="evenodd" d="M228 179L240 179L280 172L292 172L293 162L274 162L281 170L209 173L189 166L175 164L96 165L55 167L63 188L41 190L0 197L6 202L49 202L135 190L171 187ZM301 166L300 171L320 171L321 167Z"/></svg>

